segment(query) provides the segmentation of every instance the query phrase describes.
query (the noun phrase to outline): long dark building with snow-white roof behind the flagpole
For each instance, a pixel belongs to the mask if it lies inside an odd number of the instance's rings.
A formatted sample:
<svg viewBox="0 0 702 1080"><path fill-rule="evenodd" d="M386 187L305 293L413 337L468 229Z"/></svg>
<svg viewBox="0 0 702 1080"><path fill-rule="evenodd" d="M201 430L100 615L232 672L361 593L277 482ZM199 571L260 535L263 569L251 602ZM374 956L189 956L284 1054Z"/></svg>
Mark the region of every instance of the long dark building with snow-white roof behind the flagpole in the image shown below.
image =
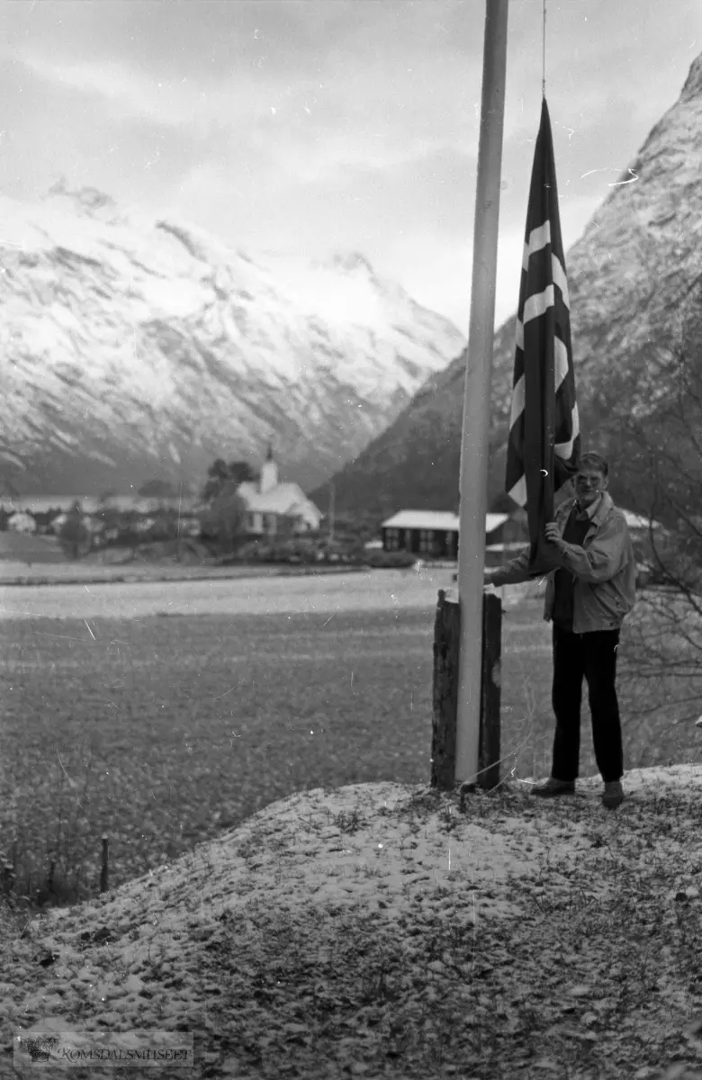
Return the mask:
<svg viewBox="0 0 702 1080"><path fill-rule="evenodd" d="M502 544L510 514L487 514L486 541ZM521 528L521 523L517 522ZM438 510L401 510L380 526L383 551L410 551L434 558L458 558L458 514Z"/></svg>

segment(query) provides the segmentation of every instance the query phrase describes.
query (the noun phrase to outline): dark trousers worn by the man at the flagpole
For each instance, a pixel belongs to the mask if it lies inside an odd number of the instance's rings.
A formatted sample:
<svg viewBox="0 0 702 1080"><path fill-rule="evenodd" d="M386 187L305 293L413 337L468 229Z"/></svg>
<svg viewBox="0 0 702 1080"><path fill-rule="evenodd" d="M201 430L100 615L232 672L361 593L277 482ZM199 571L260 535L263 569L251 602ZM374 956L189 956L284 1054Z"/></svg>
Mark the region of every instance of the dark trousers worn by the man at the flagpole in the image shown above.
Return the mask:
<svg viewBox="0 0 702 1080"><path fill-rule="evenodd" d="M595 760L605 783L620 780L622 730L615 689L619 630L572 634L553 626L553 692L556 716L553 768L556 780L575 780L580 765L582 679L588 680Z"/></svg>

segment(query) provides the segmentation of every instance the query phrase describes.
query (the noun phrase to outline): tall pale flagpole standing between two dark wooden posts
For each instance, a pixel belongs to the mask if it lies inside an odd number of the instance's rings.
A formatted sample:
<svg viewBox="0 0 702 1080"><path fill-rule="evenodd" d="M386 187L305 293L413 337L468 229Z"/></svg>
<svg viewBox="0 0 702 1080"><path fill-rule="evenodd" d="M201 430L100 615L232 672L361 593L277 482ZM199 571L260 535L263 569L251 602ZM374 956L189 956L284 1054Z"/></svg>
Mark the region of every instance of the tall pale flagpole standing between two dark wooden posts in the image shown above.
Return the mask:
<svg viewBox="0 0 702 1080"><path fill-rule="evenodd" d="M461 434L458 599L460 648L455 781L478 771L487 451L502 166L509 0L486 0L473 274Z"/></svg>

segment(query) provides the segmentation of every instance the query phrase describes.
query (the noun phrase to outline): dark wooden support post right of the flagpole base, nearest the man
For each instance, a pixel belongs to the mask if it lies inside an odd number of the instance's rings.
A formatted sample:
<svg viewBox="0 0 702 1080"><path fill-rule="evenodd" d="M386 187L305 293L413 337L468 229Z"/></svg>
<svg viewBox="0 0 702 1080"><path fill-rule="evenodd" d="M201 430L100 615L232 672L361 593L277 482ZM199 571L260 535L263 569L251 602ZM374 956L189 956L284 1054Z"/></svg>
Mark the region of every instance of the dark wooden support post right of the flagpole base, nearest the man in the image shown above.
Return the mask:
<svg viewBox="0 0 702 1080"><path fill-rule="evenodd" d="M483 672L481 683L480 774L485 791L500 782L500 687L502 603L496 593L483 593Z"/></svg>

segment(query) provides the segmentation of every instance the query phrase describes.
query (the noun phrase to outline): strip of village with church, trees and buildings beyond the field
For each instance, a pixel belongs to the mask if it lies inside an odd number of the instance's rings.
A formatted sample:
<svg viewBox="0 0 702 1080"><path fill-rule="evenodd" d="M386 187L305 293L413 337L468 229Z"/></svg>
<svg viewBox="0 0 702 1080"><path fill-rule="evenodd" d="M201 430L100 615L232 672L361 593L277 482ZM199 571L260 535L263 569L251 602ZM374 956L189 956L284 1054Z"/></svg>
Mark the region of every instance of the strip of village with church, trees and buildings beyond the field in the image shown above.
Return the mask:
<svg viewBox="0 0 702 1080"><path fill-rule="evenodd" d="M120 551L137 549L141 556L152 550L154 557L172 555L177 562L183 558L185 544L191 556L218 556L226 562L375 562L388 566L457 563L459 517L454 512L402 507L380 521L348 513L335 518L332 489L329 504L323 510L298 484L281 476L281 467L269 445L258 475L235 486L244 512L238 519L230 550L222 550L207 530L214 499L204 498L204 489L200 495L105 492L102 498L63 499L22 498L15 489L5 489L0 496L0 531L45 538L55 549L63 526L73 515L84 525L87 538L72 557L96 557L108 552L117 557ZM144 491L148 487L145 485ZM622 509L644 583L653 572L649 522ZM657 537L665 534L657 522L652 529ZM528 541L526 512L515 507L508 513L488 513L485 538L487 566L512 558ZM168 544L170 550L164 551ZM35 556L35 561L40 558Z"/></svg>

